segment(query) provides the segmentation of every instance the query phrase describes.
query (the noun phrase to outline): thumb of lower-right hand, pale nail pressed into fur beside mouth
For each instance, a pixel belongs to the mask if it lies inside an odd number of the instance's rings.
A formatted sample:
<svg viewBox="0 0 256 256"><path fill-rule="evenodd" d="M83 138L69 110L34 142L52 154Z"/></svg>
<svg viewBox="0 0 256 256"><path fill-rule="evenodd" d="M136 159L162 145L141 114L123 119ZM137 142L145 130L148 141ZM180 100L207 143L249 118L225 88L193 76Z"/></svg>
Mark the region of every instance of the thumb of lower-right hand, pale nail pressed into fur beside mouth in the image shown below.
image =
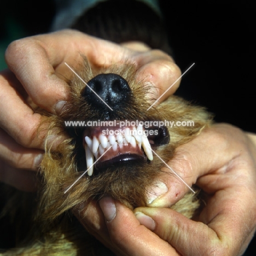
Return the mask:
<svg viewBox="0 0 256 256"><path fill-rule="evenodd" d="M243 137L236 127L218 124L179 146L173 159L167 162L169 168L163 167L161 177L147 189L149 191L148 205L170 207L184 197L189 187L193 184L199 185L199 177L230 165L231 159L243 150L247 151ZM181 177L183 182L177 176ZM207 193L216 192L216 188L211 188L211 190L206 186L201 186L201 188Z"/></svg>

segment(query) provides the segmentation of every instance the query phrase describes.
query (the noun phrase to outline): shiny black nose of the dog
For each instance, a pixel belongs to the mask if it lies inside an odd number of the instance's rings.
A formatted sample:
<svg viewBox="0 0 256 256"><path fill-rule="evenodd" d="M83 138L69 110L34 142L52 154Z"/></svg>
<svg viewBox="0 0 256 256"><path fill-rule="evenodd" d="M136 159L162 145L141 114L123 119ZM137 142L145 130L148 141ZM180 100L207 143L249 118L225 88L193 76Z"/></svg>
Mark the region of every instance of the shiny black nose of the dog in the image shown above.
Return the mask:
<svg viewBox="0 0 256 256"><path fill-rule="evenodd" d="M91 104L100 104L102 106L106 106L104 102L110 107L118 106L131 92L126 80L120 75L112 73L96 75L88 82L88 85L91 89L86 86L82 96L85 96L86 100Z"/></svg>

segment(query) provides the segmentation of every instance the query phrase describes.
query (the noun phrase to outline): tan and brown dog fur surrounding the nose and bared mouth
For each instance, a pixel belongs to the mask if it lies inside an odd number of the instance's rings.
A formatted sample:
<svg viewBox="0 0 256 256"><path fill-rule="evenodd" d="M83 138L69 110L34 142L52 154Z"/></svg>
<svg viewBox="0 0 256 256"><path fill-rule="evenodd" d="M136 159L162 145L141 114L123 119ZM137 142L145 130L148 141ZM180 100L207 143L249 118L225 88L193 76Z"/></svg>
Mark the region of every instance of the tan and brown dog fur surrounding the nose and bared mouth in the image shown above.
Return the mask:
<svg viewBox="0 0 256 256"><path fill-rule="evenodd" d="M68 139L62 141L56 150L51 150L46 142L48 146L45 146L46 153L40 165L42 189L34 199L36 201L32 203L30 199L31 205L34 205L34 216L31 216L31 222L27 222L31 223L31 230L25 240L16 245L19 249L10 249L1 255L100 255L98 242L72 217L72 211L82 204L86 207L91 200L97 202L104 195L112 196L130 208L147 206L150 185L154 185L154 181L164 172L162 168L165 164L162 160L169 162L175 159L175 149L193 139L211 123L210 115L203 108L191 106L176 96L147 110L156 96L150 94L150 85L136 79L136 66L130 63L93 69L83 57L77 72L85 82L101 73L119 74L129 84L131 92L118 106L112 106L113 111L107 107L98 108L97 104L87 101L83 95L85 84L74 75L69 83L71 98L60 115L49 115L42 109L35 109L44 114L39 133L45 132L43 127L46 124L49 125L49 137L57 132L65 132ZM194 121L194 126L167 127L170 142L152 146L162 160L154 155L152 161L110 165L97 170L92 176L85 173L78 179L86 171L83 142L85 128L67 129L65 121L106 119L168 120L174 123L191 120ZM171 171L168 173L170 176L174 175ZM192 218L200 206L200 198L196 195L188 193L171 208ZM102 255L108 255L107 251L103 251Z"/></svg>

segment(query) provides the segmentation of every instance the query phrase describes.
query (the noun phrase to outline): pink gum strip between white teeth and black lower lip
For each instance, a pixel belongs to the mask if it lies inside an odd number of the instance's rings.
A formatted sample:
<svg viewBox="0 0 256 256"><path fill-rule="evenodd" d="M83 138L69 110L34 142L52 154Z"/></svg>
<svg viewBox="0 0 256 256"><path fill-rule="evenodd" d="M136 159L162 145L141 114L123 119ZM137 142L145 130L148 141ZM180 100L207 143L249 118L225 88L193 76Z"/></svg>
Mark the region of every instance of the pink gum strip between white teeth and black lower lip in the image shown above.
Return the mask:
<svg viewBox="0 0 256 256"><path fill-rule="evenodd" d="M113 149L114 148L114 149ZM115 149L116 148L116 149ZM102 158L99 160L100 162L107 161L113 159L119 155L123 154L137 154L137 155L144 155L142 150L136 144L136 147L132 147L131 144L117 144L117 146L113 146L105 153Z"/></svg>

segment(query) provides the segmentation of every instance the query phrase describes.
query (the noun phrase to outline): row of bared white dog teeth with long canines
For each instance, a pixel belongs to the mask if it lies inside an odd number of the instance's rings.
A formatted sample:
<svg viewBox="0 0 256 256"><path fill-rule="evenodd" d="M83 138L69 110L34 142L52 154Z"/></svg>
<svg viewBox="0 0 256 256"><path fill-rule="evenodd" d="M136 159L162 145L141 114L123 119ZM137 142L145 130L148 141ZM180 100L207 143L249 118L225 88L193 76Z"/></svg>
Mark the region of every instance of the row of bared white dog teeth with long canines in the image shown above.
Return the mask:
<svg viewBox="0 0 256 256"><path fill-rule="evenodd" d="M133 130L143 131L143 127L139 125L137 129L136 127L133 127ZM110 146L113 146L112 149L115 151L117 150L118 145L120 148L122 148L123 144L130 143L131 146L135 148L137 144L139 148L143 147L148 159L152 161L153 154L150 143L148 141L148 137L142 134L142 132L134 132L131 135L130 129L126 128L124 133L119 133L117 136L106 136L101 134L98 136L98 138L94 136L92 139L88 136L85 136L85 157L86 165L88 168L88 175L91 176L93 173L94 156L96 159L99 158Z"/></svg>

